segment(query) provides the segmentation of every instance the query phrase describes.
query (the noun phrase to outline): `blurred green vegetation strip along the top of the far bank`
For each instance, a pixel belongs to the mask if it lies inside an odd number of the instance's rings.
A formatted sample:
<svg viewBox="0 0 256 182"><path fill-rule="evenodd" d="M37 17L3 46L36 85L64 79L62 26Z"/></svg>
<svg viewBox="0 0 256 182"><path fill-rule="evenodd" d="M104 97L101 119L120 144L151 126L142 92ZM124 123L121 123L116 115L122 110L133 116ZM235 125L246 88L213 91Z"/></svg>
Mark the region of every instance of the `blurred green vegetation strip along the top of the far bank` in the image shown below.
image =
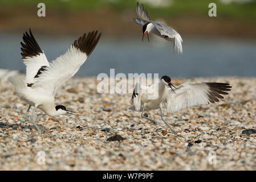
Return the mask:
<svg viewBox="0 0 256 182"><path fill-rule="evenodd" d="M208 5L215 2L217 5L217 16L226 19L256 20L256 1L247 3L224 4L220 1L209 0L173 0L169 7L157 8L145 5L150 15L154 17L172 16L189 17L208 15ZM43 2L47 8L66 11L94 11L98 8L109 8L116 13L125 9L135 10L136 0L1 0L3 7L35 7Z"/></svg>

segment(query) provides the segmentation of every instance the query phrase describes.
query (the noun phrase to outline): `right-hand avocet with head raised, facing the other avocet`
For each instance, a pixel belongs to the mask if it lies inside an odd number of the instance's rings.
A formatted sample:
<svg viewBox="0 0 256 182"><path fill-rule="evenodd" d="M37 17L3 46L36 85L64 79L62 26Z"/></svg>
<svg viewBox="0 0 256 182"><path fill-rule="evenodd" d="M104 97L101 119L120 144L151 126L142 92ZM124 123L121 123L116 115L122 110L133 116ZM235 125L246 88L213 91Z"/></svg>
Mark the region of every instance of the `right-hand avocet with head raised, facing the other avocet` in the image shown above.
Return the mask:
<svg viewBox="0 0 256 182"><path fill-rule="evenodd" d="M185 82L176 88L171 83L169 76L163 76L159 83L149 86L142 85L140 81L137 82L131 99L133 106L129 109L141 111L141 117L153 123L156 122L145 117L143 113L145 110L160 109L162 121L173 133L177 133L163 118L162 109L164 107L168 113L173 113L185 107L218 102L224 98L222 95L228 94L227 91L230 91L230 88L229 84L218 82ZM158 93L157 98L150 99L149 96L152 96L152 93Z"/></svg>

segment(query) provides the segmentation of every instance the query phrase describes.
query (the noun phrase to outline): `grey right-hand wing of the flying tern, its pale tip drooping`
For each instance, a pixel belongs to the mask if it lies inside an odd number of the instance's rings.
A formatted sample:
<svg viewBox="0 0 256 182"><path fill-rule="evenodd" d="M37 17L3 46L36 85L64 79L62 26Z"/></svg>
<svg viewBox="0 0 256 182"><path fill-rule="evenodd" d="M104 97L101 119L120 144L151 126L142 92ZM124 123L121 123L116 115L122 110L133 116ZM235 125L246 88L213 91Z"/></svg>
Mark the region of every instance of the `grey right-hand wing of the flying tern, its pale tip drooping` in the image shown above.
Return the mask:
<svg viewBox="0 0 256 182"><path fill-rule="evenodd" d="M166 24L161 22L153 22L153 25L156 27L157 30L159 30L160 34L163 36L168 36L169 38L173 38L173 51L178 52L179 54L182 53L182 38L180 34L176 30L174 30L171 27L166 26Z"/></svg>

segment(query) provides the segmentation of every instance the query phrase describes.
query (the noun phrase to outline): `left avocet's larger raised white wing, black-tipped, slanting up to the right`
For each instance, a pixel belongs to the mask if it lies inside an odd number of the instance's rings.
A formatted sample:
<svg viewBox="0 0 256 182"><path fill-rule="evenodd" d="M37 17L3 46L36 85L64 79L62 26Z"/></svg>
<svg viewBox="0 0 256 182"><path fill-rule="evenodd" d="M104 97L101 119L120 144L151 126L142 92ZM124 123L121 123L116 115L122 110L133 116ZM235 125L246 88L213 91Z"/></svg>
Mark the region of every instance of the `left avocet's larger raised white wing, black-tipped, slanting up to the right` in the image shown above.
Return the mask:
<svg viewBox="0 0 256 182"><path fill-rule="evenodd" d="M52 61L48 67L36 78L33 88L43 88L49 94L55 94L56 90L69 78L78 72L80 66L91 55L99 42L100 34L89 32L84 34L71 45L64 55Z"/></svg>

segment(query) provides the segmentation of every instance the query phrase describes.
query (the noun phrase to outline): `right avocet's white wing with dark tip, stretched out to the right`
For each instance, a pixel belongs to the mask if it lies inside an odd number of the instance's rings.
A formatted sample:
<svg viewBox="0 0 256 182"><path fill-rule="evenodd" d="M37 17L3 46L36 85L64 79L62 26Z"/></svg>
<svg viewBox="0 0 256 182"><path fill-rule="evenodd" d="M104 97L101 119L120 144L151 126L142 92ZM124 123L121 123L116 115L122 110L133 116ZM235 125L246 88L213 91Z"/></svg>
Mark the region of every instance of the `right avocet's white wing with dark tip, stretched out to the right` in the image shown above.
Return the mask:
<svg viewBox="0 0 256 182"><path fill-rule="evenodd" d="M204 82L192 83L185 82L177 86L177 89L169 91L166 99L166 110L173 113L179 109L218 102L224 98L221 94L228 94L224 91L230 91L231 86L225 83Z"/></svg>

